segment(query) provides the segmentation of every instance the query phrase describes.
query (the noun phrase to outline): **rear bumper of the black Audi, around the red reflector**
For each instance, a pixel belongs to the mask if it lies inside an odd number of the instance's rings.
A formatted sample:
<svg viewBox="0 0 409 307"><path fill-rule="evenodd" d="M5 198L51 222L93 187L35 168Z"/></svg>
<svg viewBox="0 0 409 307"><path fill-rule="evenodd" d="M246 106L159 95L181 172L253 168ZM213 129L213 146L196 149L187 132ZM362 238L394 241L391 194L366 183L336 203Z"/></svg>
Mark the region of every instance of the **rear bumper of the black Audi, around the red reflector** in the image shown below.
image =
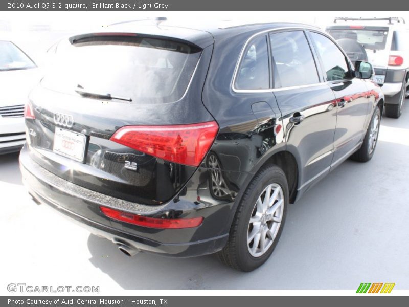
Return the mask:
<svg viewBox="0 0 409 307"><path fill-rule="evenodd" d="M47 204L70 217L90 232L121 242L131 248L147 253L171 257L191 257L215 253L227 242L232 203L204 204L191 202L187 195L178 196L177 201L160 206L135 204L84 189L65 181L34 162L27 145L20 153L20 169L23 182L34 199ZM61 182L63 181L63 182ZM86 190L86 191L84 191ZM196 196L197 198L197 196ZM152 215L158 211L170 212L183 208L183 217L205 217L202 225L186 229L153 229L110 220L102 214L100 205L123 206L121 210L137 214ZM116 207L115 207L116 206Z"/></svg>

